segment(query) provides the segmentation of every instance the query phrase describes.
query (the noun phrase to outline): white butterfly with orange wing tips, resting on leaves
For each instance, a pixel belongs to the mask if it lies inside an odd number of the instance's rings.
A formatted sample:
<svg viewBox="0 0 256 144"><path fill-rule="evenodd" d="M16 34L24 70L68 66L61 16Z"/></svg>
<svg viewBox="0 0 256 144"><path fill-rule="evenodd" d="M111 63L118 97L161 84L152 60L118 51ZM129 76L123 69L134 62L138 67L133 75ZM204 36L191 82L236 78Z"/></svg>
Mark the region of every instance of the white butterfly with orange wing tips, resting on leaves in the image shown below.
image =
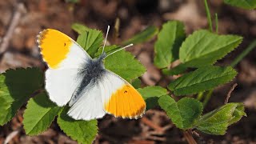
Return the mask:
<svg viewBox="0 0 256 144"><path fill-rule="evenodd" d="M141 94L104 68L103 60L108 56L104 50L98 58L91 58L72 38L53 29L42 30L37 42L48 66L46 92L58 106L70 106L67 114L71 118L91 120L113 114L137 119L145 113L146 102ZM105 44L106 39L103 49Z"/></svg>

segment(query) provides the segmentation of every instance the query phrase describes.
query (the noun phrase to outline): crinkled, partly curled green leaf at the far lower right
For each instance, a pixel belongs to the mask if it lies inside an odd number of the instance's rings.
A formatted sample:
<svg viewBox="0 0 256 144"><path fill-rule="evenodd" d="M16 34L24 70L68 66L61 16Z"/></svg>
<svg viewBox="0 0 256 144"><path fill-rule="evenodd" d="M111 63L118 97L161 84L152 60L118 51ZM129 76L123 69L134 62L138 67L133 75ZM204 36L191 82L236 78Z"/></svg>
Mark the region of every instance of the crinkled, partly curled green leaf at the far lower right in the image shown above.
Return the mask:
<svg viewBox="0 0 256 144"><path fill-rule="evenodd" d="M227 127L246 116L242 103L227 103L226 105L204 114L195 128L207 134L226 134Z"/></svg>

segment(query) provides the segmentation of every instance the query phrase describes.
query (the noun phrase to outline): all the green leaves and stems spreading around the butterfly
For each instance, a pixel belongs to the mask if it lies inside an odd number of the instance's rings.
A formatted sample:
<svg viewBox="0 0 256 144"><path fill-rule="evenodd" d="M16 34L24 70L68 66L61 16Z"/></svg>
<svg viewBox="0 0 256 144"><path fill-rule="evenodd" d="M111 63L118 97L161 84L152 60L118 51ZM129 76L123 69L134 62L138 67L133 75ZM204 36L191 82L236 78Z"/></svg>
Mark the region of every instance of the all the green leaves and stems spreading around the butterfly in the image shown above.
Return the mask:
<svg viewBox="0 0 256 144"><path fill-rule="evenodd" d="M205 4L208 7L206 1ZM181 75L168 86L141 88L138 77L146 69L125 50L107 57L105 66L106 69L125 78L137 88L146 100L147 110L160 106L179 129L184 131L196 129L206 134L222 135L226 133L228 126L238 122L242 116L246 116L244 106L236 102L225 103L206 114L202 113L203 106L209 101L216 86L234 79L238 73L232 66L248 54L255 44L253 43L245 53L236 58L231 66L214 66L215 62L225 57L242 42L242 37L217 34L217 14L215 14L216 33L214 34L209 8L206 8L206 11L210 31L197 30L186 37L182 22L170 21L163 24L160 31L155 26L150 26L142 33L122 42L123 44L130 42L137 44L146 42L158 34L154 44L154 65L166 76ZM75 23L72 28L78 32L77 42L84 50L92 58L98 57L102 52L102 32L78 23ZM120 46L115 45L106 46L105 51L110 53L119 48ZM176 60L181 63L171 68L171 63ZM0 125L9 122L18 109L28 101L23 115L26 134L42 133L57 117L58 126L70 138L79 143L93 142L98 134L97 120L78 121L70 118L66 114L68 106L58 107L50 101L44 92L43 81L42 71L38 68L7 70L6 73L0 75L0 100L2 102ZM198 94L198 98L191 97L194 94ZM204 98L203 102L201 102L202 98Z"/></svg>

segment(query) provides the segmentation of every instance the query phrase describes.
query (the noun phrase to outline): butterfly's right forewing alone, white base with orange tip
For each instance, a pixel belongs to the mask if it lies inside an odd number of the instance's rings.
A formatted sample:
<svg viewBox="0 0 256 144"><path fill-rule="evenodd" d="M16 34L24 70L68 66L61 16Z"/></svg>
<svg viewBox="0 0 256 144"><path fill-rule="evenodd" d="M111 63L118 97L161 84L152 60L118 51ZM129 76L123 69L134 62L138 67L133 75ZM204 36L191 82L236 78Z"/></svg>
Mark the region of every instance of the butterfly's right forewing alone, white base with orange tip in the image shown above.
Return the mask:
<svg viewBox="0 0 256 144"><path fill-rule="evenodd" d="M103 84L107 87L107 90L102 95L105 96L103 98L104 110L115 117L142 117L146 109L146 103L141 94L129 82L111 71L107 71L106 80Z"/></svg>

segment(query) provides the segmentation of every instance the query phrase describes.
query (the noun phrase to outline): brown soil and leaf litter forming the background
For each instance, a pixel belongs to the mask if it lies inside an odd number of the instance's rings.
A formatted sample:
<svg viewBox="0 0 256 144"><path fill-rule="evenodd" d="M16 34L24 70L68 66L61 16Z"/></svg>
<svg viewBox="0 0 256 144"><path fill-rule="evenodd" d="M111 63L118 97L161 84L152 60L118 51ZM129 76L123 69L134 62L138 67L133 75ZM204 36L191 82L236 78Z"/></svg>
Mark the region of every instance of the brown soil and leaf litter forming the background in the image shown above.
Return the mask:
<svg viewBox="0 0 256 144"><path fill-rule="evenodd" d="M45 28L61 30L75 39L78 34L71 30L73 22L102 30L104 33L106 26L110 25L108 40L111 44L118 45L146 26L161 27L162 23L168 20L184 22L186 34L208 27L204 3L198 0L80 0L78 3L66 1L0 1L0 40L8 33L18 2L25 6L18 25L10 34L6 50L0 52L1 73L17 67L46 68L35 43L36 35ZM256 11L227 6L222 0L209 0L209 5L212 14L218 13L219 34L238 34L244 38L236 50L217 63L226 66L256 38ZM113 28L116 18L120 19L118 38L114 37ZM128 50L146 66L147 72L141 78L143 86L154 86L156 83L166 86L172 78L162 78L160 70L154 67L154 42L155 38ZM193 136L198 143L256 143L255 54L256 50L252 50L235 67L239 74L233 82L214 90L213 97L204 111L222 106L231 87L238 83L231 94L230 102L243 102L247 117L230 126L223 136L202 134L195 130ZM60 130L55 121L46 132L33 137L26 136L22 129L25 107L22 106L18 114L5 126L0 126L1 143L16 131L17 134L14 134L9 143L76 143ZM146 111L145 116L138 120L106 115L98 120L98 127L99 134L94 143L186 143L182 130L178 130L159 107Z"/></svg>

